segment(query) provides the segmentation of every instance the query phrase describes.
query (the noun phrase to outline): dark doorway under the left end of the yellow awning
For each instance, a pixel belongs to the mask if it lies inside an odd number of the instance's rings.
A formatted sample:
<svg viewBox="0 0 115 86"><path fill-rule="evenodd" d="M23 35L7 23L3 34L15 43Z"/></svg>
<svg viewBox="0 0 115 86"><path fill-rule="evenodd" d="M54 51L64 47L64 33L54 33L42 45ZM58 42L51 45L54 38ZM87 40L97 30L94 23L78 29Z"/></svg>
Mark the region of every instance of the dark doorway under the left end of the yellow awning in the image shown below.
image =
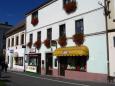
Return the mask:
<svg viewBox="0 0 115 86"><path fill-rule="evenodd" d="M66 57L59 57L60 63L60 75L65 76L65 70L67 68L67 58Z"/></svg>

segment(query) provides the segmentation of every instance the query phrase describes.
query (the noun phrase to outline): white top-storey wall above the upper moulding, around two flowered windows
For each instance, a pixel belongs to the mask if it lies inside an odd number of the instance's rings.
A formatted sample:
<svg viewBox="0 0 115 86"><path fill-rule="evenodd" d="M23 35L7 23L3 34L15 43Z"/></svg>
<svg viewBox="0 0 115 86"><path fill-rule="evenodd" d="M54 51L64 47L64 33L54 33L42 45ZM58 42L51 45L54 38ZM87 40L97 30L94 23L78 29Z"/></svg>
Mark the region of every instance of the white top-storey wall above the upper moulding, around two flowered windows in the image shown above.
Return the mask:
<svg viewBox="0 0 115 86"><path fill-rule="evenodd" d="M76 12L68 15L63 10L62 0L58 0L38 11L39 24L37 26L33 27L31 24L31 15L27 16L27 32L100 8L101 6L98 4L98 1L103 3L103 0L77 0L78 5Z"/></svg>

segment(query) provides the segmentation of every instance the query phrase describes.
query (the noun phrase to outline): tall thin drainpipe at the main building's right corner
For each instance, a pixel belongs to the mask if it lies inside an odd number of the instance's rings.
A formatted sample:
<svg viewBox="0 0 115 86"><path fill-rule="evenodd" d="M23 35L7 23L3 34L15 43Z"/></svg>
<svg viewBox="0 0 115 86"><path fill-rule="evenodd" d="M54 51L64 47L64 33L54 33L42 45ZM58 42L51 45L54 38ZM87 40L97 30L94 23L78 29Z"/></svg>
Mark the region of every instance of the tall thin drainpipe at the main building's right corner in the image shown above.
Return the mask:
<svg viewBox="0 0 115 86"><path fill-rule="evenodd" d="M107 3L109 2L109 0L104 0L104 13L105 13L105 28L106 28L106 46L107 46L107 79L108 82L110 82L109 80L109 76L110 76L110 64L109 64L109 38L108 38L108 5Z"/></svg>

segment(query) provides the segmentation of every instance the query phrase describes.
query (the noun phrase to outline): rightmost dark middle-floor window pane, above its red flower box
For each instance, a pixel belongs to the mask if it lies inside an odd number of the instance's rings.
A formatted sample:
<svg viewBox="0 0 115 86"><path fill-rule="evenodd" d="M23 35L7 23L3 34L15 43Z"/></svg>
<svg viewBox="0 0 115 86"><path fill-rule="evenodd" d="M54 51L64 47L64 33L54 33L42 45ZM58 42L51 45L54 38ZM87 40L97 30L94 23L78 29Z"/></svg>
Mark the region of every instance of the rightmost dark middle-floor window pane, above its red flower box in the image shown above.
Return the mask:
<svg viewBox="0 0 115 86"><path fill-rule="evenodd" d="M82 34L84 33L83 19L75 21L75 32L82 33Z"/></svg>

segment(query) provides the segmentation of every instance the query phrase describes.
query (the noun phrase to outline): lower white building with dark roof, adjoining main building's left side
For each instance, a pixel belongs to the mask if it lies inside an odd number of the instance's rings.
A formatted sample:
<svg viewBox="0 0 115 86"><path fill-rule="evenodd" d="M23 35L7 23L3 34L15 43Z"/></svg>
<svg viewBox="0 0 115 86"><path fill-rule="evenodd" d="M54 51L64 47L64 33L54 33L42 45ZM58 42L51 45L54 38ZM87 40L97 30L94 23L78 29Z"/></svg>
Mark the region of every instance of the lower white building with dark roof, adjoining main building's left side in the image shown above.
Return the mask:
<svg viewBox="0 0 115 86"><path fill-rule="evenodd" d="M6 33L6 61L12 70L24 71L25 22Z"/></svg>

